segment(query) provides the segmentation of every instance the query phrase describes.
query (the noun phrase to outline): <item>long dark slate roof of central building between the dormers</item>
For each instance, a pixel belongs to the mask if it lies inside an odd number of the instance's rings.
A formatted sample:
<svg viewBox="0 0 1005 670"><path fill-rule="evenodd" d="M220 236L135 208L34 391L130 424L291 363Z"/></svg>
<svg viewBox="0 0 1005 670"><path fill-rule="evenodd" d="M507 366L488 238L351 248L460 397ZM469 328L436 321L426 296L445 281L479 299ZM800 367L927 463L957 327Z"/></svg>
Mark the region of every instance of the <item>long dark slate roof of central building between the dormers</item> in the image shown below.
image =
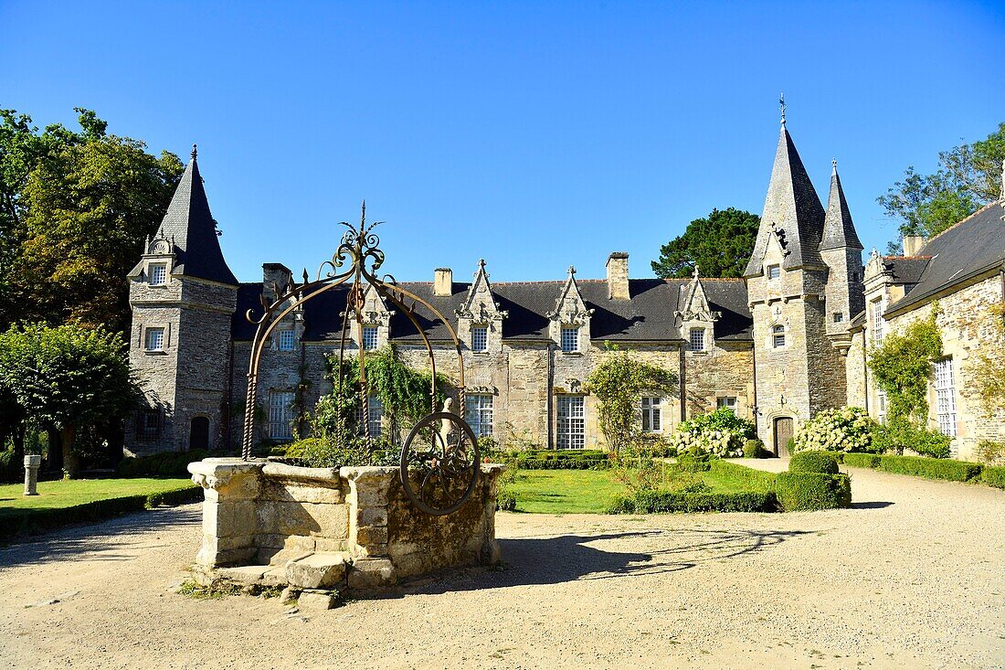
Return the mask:
<svg viewBox="0 0 1005 670"><path fill-rule="evenodd" d="M631 300L609 300L606 280L577 280L579 290L588 308L594 309L590 320L590 337L593 340L665 342L680 340L673 313L677 309L680 288L688 280L629 280ZM722 312L715 324L716 339L751 341L753 320L747 305L747 287L741 279L702 279L711 309ZM555 302L565 282L513 282L493 283L492 296L500 310L509 311L502 321L505 340L547 341L548 312L555 309ZM400 286L440 311L456 328L454 310L467 297L469 283L454 283L449 297L433 296L431 282L402 282ZM233 317L234 340L250 340L254 327L244 318L251 308L260 313L258 296L261 284L242 284L237 292L237 312ZM305 305L305 334L307 341L337 340L345 310L346 289L328 291ZM393 305L391 339L418 340L419 336L408 321ZM421 305L417 306L417 319L431 340L449 339L449 331Z"/></svg>

